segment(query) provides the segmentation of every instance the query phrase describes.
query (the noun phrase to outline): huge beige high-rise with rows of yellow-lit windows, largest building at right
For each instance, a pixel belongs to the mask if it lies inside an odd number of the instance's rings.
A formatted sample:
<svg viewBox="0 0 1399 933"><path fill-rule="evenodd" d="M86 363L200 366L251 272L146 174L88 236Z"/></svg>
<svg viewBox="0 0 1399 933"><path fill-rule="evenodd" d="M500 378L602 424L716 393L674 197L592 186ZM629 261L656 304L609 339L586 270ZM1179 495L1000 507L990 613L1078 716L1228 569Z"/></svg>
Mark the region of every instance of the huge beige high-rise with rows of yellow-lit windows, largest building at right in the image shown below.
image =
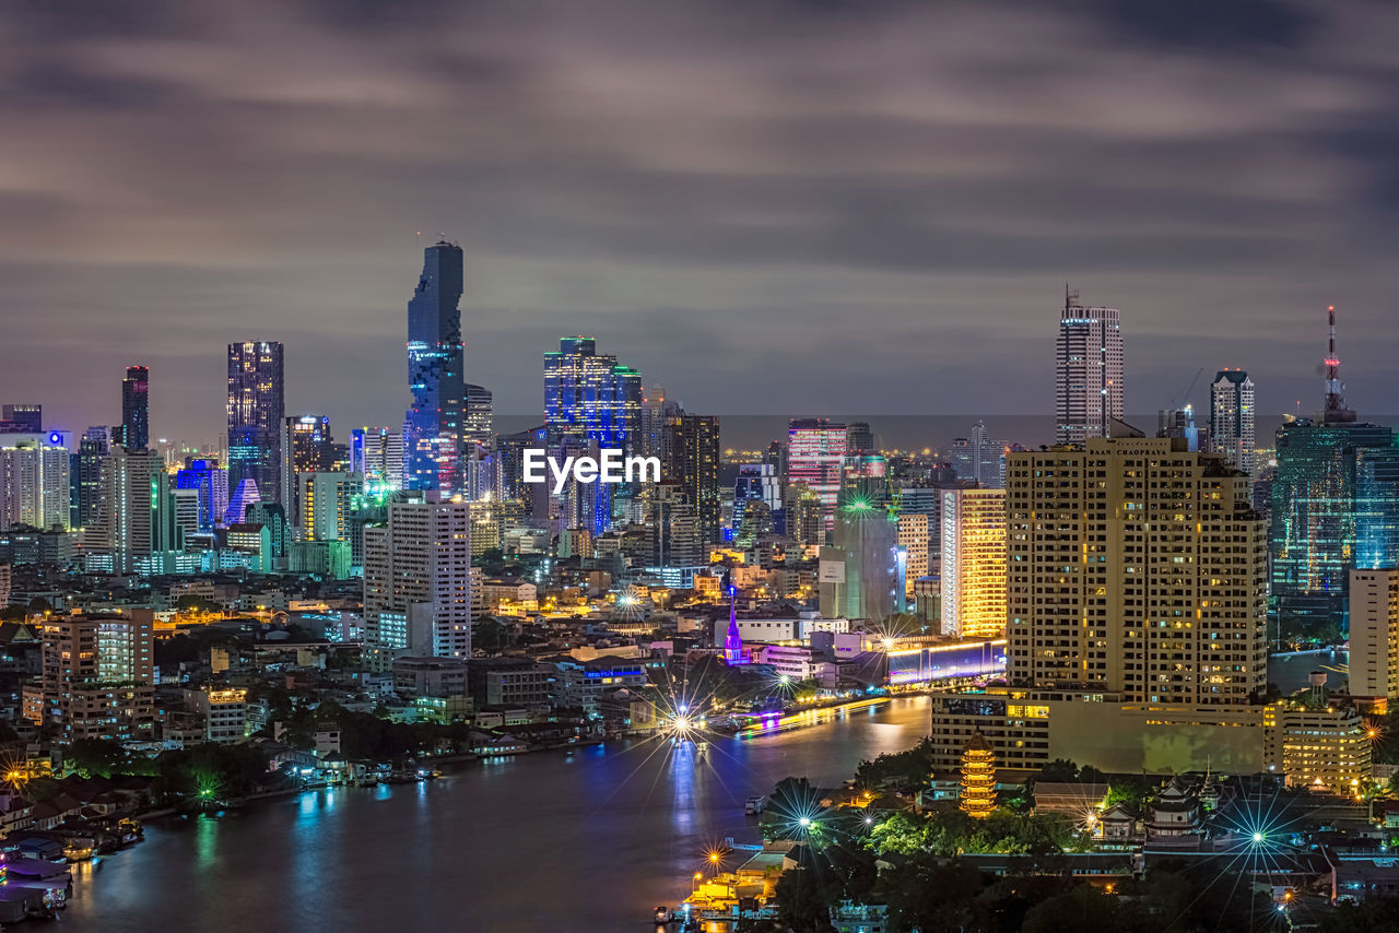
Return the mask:
<svg viewBox="0 0 1399 933"><path fill-rule="evenodd" d="M1013 453L1006 474L1013 685L1198 706L1263 692L1267 561L1245 474L1160 438Z"/></svg>

